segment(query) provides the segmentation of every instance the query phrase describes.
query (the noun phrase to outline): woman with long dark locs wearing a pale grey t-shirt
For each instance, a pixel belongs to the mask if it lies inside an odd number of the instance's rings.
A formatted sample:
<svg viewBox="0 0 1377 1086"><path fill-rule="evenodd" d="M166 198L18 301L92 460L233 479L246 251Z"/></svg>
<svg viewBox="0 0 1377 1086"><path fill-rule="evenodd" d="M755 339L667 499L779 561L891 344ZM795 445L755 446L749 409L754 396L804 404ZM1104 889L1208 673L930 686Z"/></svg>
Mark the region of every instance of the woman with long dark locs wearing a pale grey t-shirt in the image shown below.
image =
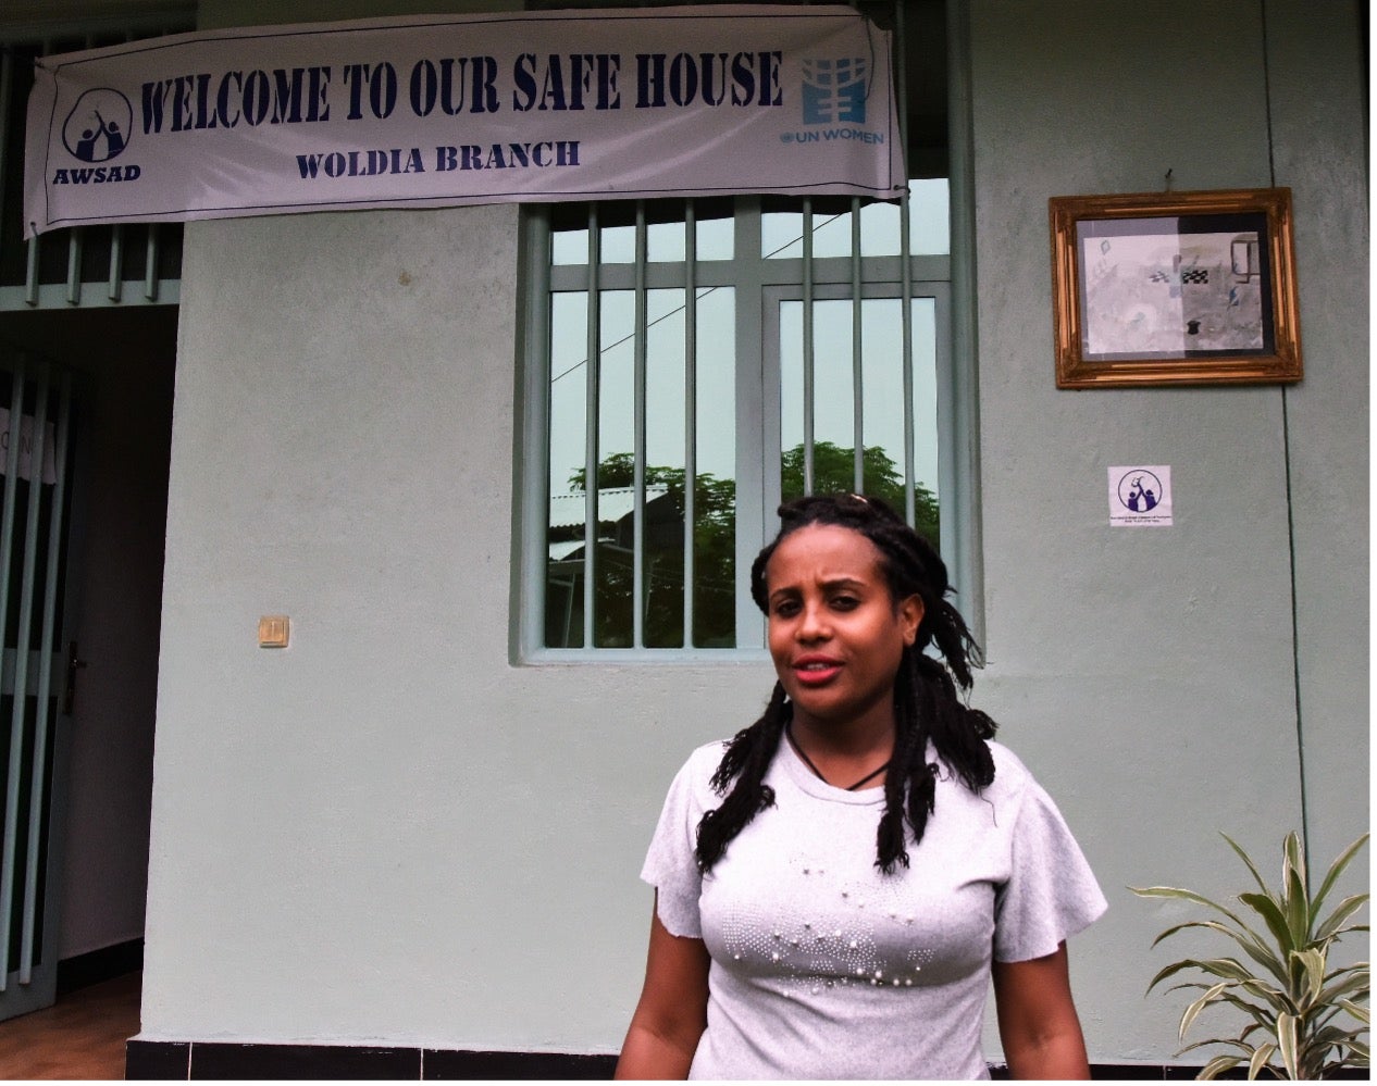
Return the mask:
<svg viewBox="0 0 1377 1086"><path fill-rule="evenodd" d="M874 498L779 515L750 571L779 681L671 786L617 1076L987 1078L993 977L1011 1074L1088 1078L1066 939L1104 899L957 694L976 650L946 567Z"/></svg>

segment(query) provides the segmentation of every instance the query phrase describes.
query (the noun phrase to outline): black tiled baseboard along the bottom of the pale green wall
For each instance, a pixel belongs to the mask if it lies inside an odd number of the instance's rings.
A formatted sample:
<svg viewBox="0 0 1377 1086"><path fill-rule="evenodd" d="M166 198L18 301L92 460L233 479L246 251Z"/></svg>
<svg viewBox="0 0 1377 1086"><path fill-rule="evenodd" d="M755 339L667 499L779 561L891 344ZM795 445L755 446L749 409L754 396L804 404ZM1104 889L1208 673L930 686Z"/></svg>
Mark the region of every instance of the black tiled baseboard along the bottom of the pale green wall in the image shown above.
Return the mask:
<svg viewBox="0 0 1377 1086"><path fill-rule="evenodd" d="M131 1041L127 1079L610 1079L616 1056L555 1052L468 1052L351 1045L229 1045L208 1041ZM1095 1064L1091 1078L1194 1079L1199 1067ZM990 1067L994 1079L1007 1067ZM1246 1078L1221 1075L1221 1078ZM1358 1069L1334 1078L1366 1079Z"/></svg>

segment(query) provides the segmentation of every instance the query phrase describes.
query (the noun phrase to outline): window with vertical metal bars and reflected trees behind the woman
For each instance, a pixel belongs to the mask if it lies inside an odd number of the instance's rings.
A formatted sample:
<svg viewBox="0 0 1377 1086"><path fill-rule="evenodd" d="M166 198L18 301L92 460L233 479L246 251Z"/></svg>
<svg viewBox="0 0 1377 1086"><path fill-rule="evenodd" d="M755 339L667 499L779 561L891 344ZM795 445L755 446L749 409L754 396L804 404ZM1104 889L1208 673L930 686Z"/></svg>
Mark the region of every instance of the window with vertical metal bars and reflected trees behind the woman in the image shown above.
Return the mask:
<svg viewBox="0 0 1377 1086"><path fill-rule="evenodd" d="M940 4L916 8L940 22ZM942 52L942 33L923 40ZM917 83L931 98L934 78ZM804 493L879 494L952 549L939 96L907 95L910 172L938 176L902 205L527 209L526 659L759 651L749 566L779 501Z"/></svg>

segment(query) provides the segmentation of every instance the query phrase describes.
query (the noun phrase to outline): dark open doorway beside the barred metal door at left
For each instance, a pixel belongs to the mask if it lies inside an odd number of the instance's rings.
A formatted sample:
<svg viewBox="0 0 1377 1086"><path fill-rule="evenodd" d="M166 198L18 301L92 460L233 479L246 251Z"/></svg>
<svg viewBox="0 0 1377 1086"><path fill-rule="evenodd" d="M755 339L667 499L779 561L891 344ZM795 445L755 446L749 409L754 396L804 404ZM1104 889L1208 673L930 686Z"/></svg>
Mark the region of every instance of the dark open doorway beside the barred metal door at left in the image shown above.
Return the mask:
<svg viewBox="0 0 1377 1086"><path fill-rule="evenodd" d="M56 895L56 959L83 972L142 955L176 319L175 306L0 312L0 350L41 355L74 383L80 666L54 783L63 845L44 892Z"/></svg>

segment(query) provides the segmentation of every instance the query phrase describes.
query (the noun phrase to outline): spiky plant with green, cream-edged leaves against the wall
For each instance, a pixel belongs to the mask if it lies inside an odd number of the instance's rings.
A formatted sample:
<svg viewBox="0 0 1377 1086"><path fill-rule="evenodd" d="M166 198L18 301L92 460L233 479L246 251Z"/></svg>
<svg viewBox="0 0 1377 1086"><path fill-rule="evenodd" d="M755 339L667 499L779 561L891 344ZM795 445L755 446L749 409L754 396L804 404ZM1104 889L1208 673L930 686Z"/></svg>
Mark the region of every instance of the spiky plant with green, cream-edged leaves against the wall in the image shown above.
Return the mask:
<svg viewBox="0 0 1377 1086"><path fill-rule="evenodd" d="M1205 1065L1199 1074L1202 1079L1241 1065L1248 1068L1250 1079L1264 1071L1275 1078L1310 1079L1323 1078L1338 1068L1369 1067L1367 1041L1363 1038L1370 1024L1367 962L1329 968L1329 948L1340 936L1367 930L1366 924L1348 921L1367 903L1369 895L1345 897L1327 917L1321 913L1336 880L1366 844L1367 834L1343 851L1314 896L1297 834L1287 834L1282 845L1282 881L1275 891L1263 881L1248 853L1227 835L1224 840L1257 884L1257 891L1241 893L1238 900L1256 914L1250 919L1254 925L1260 919L1263 930L1250 928L1234 911L1192 891L1129 888L1143 897L1192 902L1216 914L1209 919L1168 928L1153 941L1154 947L1177 932L1201 928L1226 936L1242 950L1242 955L1235 951L1232 957L1183 958L1162 969L1147 986L1151 991L1183 970L1203 976L1203 980L1184 981L1169 990L1201 992L1181 1014L1181 1041L1206 1008L1230 1006L1243 1016L1243 1028L1235 1036L1197 1041L1177 1056L1206 1045L1228 1049Z"/></svg>

